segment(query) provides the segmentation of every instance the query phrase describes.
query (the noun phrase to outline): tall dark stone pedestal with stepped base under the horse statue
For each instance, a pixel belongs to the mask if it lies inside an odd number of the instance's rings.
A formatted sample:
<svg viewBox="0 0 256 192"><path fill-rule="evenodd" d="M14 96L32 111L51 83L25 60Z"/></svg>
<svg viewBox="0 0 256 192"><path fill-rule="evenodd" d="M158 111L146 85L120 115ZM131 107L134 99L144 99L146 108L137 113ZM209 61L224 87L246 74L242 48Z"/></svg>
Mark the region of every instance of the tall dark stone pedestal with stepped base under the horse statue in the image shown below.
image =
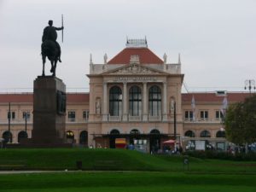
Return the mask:
<svg viewBox="0 0 256 192"><path fill-rule="evenodd" d="M61 79L38 76L34 80L32 138L24 147L67 147L65 132L66 85ZM67 145L67 146L66 146Z"/></svg>

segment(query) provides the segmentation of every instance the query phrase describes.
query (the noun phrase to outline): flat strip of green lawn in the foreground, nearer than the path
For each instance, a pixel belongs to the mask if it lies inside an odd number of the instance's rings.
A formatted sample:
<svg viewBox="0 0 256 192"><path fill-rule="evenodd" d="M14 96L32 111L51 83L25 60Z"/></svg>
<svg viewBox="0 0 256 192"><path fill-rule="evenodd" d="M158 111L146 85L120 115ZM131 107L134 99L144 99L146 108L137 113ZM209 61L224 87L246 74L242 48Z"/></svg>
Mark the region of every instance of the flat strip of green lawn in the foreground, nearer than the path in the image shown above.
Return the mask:
<svg viewBox="0 0 256 192"><path fill-rule="evenodd" d="M63 172L0 175L0 191L254 192L256 175L183 172Z"/></svg>

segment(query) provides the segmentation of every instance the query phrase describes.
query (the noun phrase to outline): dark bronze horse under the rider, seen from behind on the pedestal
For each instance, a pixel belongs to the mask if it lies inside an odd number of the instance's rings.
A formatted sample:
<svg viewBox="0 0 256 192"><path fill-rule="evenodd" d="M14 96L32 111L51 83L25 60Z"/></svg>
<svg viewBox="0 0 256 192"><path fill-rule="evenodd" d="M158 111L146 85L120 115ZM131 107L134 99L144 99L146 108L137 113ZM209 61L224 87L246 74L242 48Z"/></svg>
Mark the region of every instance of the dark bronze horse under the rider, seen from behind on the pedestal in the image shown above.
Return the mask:
<svg viewBox="0 0 256 192"><path fill-rule="evenodd" d="M54 41L45 40L43 44L41 44L41 54L43 59L42 76L45 76L44 64L46 62L46 56L47 56L51 64L50 72L52 73L52 76L55 77L56 66L57 66L59 55L60 55L60 49L58 49Z"/></svg>

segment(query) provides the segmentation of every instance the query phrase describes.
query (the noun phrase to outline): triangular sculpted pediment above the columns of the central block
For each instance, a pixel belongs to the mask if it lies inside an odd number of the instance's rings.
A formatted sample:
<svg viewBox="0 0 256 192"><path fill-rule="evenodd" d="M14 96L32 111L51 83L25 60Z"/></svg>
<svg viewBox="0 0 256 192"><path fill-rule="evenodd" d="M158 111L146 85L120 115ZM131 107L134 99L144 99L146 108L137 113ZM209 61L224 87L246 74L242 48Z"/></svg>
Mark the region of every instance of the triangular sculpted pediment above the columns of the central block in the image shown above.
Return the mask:
<svg viewBox="0 0 256 192"><path fill-rule="evenodd" d="M167 74L151 67L145 67L140 64L130 64L125 67L119 67L111 71L102 73L104 75L127 75L127 74Z"/></svg>

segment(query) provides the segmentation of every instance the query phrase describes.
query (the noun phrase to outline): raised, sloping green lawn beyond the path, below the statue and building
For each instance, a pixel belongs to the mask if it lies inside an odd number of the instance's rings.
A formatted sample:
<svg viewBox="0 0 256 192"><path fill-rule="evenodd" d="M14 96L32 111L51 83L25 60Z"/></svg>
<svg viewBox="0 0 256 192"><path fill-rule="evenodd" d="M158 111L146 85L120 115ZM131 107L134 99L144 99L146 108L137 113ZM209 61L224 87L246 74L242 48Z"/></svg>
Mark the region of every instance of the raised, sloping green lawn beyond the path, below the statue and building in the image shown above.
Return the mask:
<svg viewBox="0 0 256 192"><path fill-rule="evenodd" d="M183 172L183 156L141 154L124 149L1 149L0 170L83 170ZM256 173L255 161L189 158L189 172Z"/></svg>

